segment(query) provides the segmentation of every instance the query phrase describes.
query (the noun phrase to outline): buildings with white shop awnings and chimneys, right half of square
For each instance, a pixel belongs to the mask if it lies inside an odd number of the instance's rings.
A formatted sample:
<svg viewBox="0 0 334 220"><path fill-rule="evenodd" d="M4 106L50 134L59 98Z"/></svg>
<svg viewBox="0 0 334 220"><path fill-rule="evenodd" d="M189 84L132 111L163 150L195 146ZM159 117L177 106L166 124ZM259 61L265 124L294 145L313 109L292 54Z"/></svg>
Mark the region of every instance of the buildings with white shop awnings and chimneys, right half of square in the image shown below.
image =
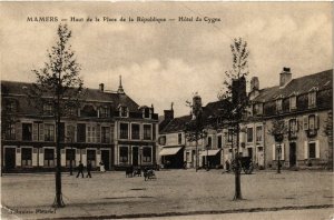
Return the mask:
<svg viewBox="0 0 334 220"><path fill-rule="evenodd" d="M240 122L239 152L250 157L259 168L276 168L278 146L284 168L323 167L333 163L333 70L292 79L289 68L277 74L278 86L259 88L258 78L250 80L247 116ZM244 88L245 89L245 88ZM198 99L198 97L197 97ZM186 127L194 117L174 118L165 110L159 127L159 163L171 168L197 166L222 167L236 151L236 137L228 121L220 121L224 100L203 107L206 138L187 141ZM281 143L271 134L273 121L284 120L286 132ZM198 151L198 153L196 153Z"/></svg>

